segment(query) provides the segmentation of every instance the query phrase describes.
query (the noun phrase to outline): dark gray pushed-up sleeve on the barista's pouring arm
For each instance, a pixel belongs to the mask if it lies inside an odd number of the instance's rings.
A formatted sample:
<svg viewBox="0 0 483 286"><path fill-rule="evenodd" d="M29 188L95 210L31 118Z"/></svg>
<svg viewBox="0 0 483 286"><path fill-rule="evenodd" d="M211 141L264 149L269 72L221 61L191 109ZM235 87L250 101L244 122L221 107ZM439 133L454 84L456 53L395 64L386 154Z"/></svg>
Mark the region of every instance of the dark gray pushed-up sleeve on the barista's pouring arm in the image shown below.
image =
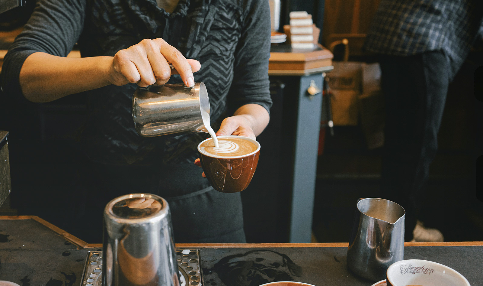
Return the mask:
<svg viewBox="0 0 483 286"><path fill-rule="evenodd" d="M24 30L15 38L2 65L2 90L22 94L20 69L28 56L44 52L66 57L82 33L86 0L39 0ZM23 96L21 96L23 98Z"/></svg>

